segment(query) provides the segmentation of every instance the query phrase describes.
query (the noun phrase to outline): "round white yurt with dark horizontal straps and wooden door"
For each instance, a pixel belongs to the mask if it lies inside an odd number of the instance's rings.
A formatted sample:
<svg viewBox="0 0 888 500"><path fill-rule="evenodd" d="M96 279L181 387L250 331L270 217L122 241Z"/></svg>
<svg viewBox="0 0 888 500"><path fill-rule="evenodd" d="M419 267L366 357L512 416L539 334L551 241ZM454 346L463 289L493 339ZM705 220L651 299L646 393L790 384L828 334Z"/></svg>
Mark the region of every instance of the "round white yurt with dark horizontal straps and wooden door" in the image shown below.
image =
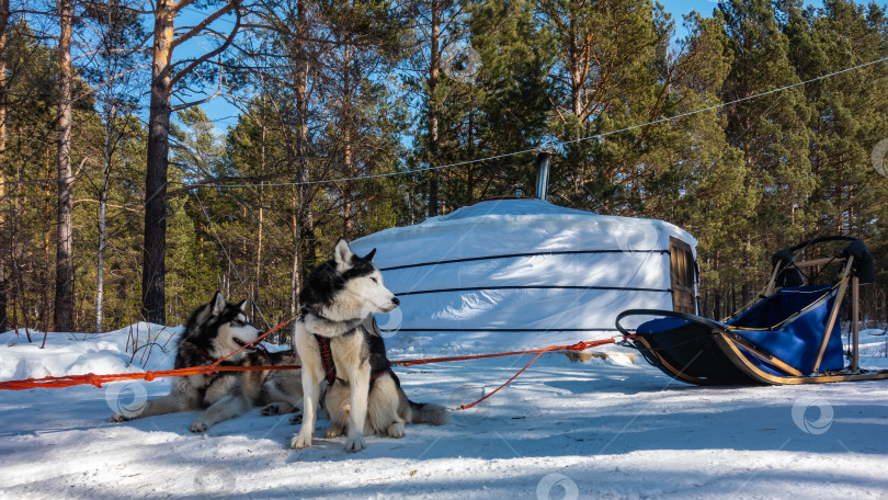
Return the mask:
<svg viewBox="0 0 888 500"><path fill-rule="evenodd" d="M387 344L455 352L607 338L630 308L694 314L695 247L662 220L538 198L480 202L352 242L358 254L377 249L374 262L401 300L377 316Z"/></svg>

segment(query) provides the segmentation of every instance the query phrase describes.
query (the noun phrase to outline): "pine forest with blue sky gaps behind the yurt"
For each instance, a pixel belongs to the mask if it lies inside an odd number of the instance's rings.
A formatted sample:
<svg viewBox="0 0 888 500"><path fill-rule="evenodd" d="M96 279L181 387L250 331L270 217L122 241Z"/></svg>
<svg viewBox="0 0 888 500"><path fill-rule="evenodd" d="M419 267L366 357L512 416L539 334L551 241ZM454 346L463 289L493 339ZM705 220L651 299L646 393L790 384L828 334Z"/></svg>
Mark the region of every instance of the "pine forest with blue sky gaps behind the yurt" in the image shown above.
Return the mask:
<svg viewBox="0 0 888 500"><path fill-rule="evenodd" d="M538 150L551 203L694 235L704 316L850 235L884 323L886 7L710 8L0 0L0 331L175 325L215 289L275 325L338 238L533 195Z"/></svg>

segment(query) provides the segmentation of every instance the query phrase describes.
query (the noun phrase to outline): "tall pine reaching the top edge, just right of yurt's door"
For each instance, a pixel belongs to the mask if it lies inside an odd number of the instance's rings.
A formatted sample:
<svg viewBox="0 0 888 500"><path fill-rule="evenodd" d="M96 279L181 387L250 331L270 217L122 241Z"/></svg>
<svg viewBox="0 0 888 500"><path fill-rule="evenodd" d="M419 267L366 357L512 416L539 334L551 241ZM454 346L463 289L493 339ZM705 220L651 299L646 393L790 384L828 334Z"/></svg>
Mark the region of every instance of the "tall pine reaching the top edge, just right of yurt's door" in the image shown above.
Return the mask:
<svg viewBox="0 0 888 500"><path fill-rule="evenodd" d="M732 0L719 4L728 37L731 71L721 99L731 102L798 83L789 60L789 42L764 0ZM741 232L742 266L758 270L741 283L742 304L753 299L753 283L765 276L764 263L774 249L804 234L799 206L815 188L808 160L810 110L800 88L747 100L729 107L728 141L743 152L745 190L758 196L756 207ZM773 228L779 227L779 232Z"/></svg>

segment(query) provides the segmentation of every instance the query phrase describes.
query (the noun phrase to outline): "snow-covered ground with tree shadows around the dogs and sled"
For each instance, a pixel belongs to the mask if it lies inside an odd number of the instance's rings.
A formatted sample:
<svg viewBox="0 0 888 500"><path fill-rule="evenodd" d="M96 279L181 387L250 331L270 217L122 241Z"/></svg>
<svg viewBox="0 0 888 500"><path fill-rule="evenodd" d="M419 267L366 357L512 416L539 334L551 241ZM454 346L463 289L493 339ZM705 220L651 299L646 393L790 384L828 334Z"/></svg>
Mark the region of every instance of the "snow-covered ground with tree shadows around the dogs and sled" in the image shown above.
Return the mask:
<svg viewBox="0 0 888 500"><path fill-rule="evenodd" d="M2 333L0 379L169 368L177 331L49 333L43 350L42 334L27 343ZM888 367L880 333L864 332L864 366ZM389 357L460 351L453 342L420 342L418 351L413 340L388 339ZM411 399L454 408L527 361L397 372ZM409 425L401 440L372 436L357 454L343 451L342 438L294 452L296 428L258 409L203 435L187 430L194 413L107 421L121 405L169 387L157 379L1 391L0 498L888 499L888 380L705 388L628 354L571 363L548 353L486 404L455 411L452 423Z"/></svg>

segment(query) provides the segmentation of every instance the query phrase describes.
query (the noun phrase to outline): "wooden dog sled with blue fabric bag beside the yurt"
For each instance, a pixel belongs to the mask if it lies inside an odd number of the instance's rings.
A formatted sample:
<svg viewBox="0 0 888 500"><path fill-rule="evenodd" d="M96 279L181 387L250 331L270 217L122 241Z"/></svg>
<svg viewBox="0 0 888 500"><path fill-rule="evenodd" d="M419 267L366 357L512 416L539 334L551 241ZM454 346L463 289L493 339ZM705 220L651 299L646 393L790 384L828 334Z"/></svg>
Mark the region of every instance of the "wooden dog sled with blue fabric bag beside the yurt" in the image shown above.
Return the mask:
<svg viewBox="0 0 888 500"><path fill-rule="evenodd" d="M843 241L834 257L796 261L812 246ZM725 321L673 310L628 309L617 329L665 374L696 385L820 384L888 378L888 370L858 366L858 287L875 281L873 257L851 237L823 237L778 251L759 303ZM834 283L813 279L841 265ZM809 276L806 274L815 274ZM840 312L851 291L849 363ZM656 319L634 333L621 325L630 316Z"/></svg>

